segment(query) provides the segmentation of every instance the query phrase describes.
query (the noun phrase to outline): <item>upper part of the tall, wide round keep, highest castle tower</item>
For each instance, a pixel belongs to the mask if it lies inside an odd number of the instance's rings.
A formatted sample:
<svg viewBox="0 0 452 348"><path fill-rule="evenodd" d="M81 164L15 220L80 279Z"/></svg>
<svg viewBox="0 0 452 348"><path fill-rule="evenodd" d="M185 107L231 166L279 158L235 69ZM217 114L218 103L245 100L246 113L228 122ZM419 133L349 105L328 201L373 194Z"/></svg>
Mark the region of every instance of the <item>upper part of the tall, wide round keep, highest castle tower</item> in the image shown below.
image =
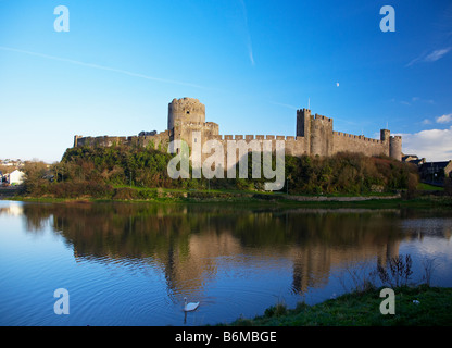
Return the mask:
<svg viewBox="0 0 452 348"><path fill-rule="evenodd" d="M173 99L168 104L168 130L177 121L205 123L205 105L194 98Z"/></svg>

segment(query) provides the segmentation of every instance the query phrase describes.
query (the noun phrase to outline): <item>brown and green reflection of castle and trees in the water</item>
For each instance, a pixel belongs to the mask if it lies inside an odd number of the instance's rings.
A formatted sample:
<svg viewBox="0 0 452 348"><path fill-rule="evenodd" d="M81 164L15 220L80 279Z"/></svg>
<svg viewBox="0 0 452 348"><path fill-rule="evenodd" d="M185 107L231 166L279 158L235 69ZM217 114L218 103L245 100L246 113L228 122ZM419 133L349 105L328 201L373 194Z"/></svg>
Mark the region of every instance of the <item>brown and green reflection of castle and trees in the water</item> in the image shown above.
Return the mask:
<svg viewBox="0 0 452 348"><path fill-rule="evenodd" d="M2 208L0 213L17 209ZM156 265L168 294L200 290L218 266L291 264L291 290L327 284L331 269L354 261L385 263L405 238L450 239L447 213L410 210L279 210L230 206L73 203L22 207L26 229L50 224L78 261ZM399 223L400 222L400 223ZM253 272L253 270L248 270ZM239 276L236 274L235 276Z"/></svg>

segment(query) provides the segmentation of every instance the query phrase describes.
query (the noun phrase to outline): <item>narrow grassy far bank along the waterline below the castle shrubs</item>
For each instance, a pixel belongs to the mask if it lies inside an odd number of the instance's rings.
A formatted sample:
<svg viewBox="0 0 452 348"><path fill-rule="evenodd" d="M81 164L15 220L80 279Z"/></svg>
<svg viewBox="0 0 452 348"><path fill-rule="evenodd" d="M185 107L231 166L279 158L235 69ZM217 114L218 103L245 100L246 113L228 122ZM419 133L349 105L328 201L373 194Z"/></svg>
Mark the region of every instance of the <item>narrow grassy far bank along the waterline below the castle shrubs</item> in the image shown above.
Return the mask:
<svg viewBox="0 0 452 348"><path fill-rule="evenodd" d="M8 195L0 192L0 199L33 202L150 202L150 203L246 203L276 207L305 208L451 208L452 197L422 192L407 198L402 194L369 194L363 196L296 196L280 192L258 192L241 190L187 190L141 187L115 187L105 197L76 196L54 198L51 196L32 197L21 195L20 190Z"/></svg>

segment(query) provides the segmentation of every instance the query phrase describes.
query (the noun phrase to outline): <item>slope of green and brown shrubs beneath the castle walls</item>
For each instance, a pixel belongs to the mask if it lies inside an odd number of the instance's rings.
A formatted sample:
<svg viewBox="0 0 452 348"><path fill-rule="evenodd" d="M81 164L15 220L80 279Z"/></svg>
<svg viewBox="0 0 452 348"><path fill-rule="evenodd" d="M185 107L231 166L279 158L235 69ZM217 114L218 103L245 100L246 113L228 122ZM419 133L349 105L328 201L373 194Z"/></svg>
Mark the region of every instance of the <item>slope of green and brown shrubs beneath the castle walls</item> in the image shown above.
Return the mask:
<svg viewBox="0 0 452 348"><path fill-rule="evenodd" d="M268 179L249 178L172 179L167 163L172 154L143 147L71 148L50 169L28 166L28 196L112 198L114 188L219 189L263 191ZM251 157L251 154L250 154ZM338 153L334 157L286 156L285 187L290 195L366 195L414 189L418 184L414 165L386 157ZM237 167L238 171L238 167ZM225 175L226 176L226 175ZM238 175L237 175L238 177ZM51 179L49 179L51 178Z"/></svg>

